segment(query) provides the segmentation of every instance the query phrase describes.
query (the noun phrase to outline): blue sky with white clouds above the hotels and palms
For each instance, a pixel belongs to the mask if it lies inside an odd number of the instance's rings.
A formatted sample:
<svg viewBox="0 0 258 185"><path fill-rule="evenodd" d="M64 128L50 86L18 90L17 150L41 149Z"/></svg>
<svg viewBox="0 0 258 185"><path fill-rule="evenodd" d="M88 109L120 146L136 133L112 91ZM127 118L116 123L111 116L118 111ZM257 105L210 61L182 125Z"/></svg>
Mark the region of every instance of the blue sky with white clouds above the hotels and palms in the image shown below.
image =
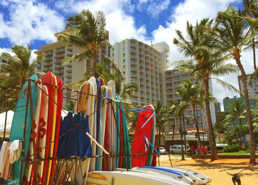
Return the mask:
<svg viewBox="0 0 258 185"><path fill-rule="evenodd" d="M65 20L89 8L104 11L111 44L126 38L148 44L165 41L170 46L169 60L179 60L183 56L172 44L175 29L184 33L187 20L195 24L201 18L213 18L228 5L238 8L242 0L1 0L0 52L10 52L13 44L30 44L38 50L41 45L55 42L54 33L64 29ZM252 73L252 53L243 55L242 61L246 73ZM222 79L238 88L236 76ZM215 81L213 91L221 103L225 96L235 95Z"/></svg>

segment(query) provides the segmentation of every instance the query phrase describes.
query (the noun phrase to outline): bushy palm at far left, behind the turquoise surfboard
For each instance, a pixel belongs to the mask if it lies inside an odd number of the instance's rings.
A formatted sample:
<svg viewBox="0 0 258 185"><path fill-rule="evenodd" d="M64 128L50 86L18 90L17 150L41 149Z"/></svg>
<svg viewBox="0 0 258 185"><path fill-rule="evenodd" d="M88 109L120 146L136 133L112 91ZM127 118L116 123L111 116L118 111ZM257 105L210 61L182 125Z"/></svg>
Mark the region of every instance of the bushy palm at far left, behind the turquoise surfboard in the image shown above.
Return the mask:
<svg viewBox="0 0 258 185"><path fill-rule="evenodd" d="M1 64L0 74L0 106L6 105L7 89L10 85L15 84L10 89L9 109L15 107L15 103L20 94L20 88L25 81L32 75L42 75L43 72L35 72L37 64L41 64L44 55L39 55L33 59L31 56L32 48L28 45L28 48L22 45L14 45L11 47L11 51L14 53L12 56L10 53L3 52L1 57L6 60L6 63Z"/></svg>

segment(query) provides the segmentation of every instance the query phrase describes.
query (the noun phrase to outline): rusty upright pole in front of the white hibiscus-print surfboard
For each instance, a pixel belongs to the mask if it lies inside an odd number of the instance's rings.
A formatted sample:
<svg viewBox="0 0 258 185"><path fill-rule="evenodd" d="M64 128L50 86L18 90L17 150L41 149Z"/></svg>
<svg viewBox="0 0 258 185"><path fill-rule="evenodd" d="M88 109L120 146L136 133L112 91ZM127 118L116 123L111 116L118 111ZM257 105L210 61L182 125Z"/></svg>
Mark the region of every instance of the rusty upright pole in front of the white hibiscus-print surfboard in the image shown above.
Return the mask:
<svg viewBox="0 0 258 185"><path fill-rule="evenodd" d="M37 88L36 84L36 88ZM40 90L40 89L39 89ZM31 81L29 80L28 84L28 92L29 92L29 100L30 100L30 119L31 119L31 134L32 134L32 140L33 140L33 153L36 154L36 143L35 143L35 135L34 135L34 115L33 115L33 105L32 105L32 92L31 92ZM37 120L36 120L37 121ZM34 169L35 172L37 172L37 155L33 155L34 158ZM36 173L35 173L36 174ZM34 174L34 176L35 176ZM34 177L35 183L38 184L38 177Z"/></svg>

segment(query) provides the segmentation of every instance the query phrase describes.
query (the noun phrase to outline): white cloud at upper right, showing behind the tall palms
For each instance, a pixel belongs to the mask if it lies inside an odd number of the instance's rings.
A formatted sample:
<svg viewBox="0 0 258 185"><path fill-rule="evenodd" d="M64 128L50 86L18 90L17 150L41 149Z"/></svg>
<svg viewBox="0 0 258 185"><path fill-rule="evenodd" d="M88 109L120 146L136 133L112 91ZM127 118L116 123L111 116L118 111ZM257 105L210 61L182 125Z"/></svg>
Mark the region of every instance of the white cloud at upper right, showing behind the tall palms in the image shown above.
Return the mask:
<svg viewBox="0 0 258 185"><path fill-rule="evenodd" d="M186 32L186 21L188 20L193 25L196 21L200 21L202 18L216 16L218 11L224 11L227 9L230 3L240 3L240 0L217 0L217 1L203 1L203 0L186 0L179 3L176 7L173 7L172 14L169 22L166 22L166 26L160 25L156 30L152 32L154 43L165 41L170 46L170 61L184 59L183 55L178 52L173 45L172 40L176 36L175 29L182 31L184 35ZM238 8L238 7L236 7ZM253 72L252 53L245 53L242 57L242 63L246 70L246 73ZM251 58L250 58L251 57ZM231 63L236 64L235 61ZM234 85L238 89L238 74L231 74L227 77L221 78L222 80ZM214 97L221 103L223 109L223 98L225 96L233 97L236 94L230 93L224 90L221 86L216 84L216 81L212 82Z"/></svg>

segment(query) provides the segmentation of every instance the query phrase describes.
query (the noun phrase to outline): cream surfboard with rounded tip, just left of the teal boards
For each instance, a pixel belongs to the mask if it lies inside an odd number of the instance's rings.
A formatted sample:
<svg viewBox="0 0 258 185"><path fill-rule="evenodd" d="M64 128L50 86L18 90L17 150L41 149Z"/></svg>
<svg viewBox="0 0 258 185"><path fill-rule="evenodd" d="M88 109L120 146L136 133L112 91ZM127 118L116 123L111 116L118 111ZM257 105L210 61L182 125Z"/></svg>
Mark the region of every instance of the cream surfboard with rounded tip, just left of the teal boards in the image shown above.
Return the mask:
<svg viewBox="0 0 258 185"><path fill-rule="evenodd" d="M107 83L107 87L110 87L112 89L112 96L111 98L112 99L115 99L116 98L116 88L115 88L115 82L113 80L110 80L108 83ZM111 150L110 152L112 154L116 154L116 123L115 123L115 117L116 116L116 105L115 103L112 101L112 105L113 105L113 109L114 109L114 112L115 112L115 115L113 114L113 111L112 109L110 109L109 111L111 112L111 114L109 114L109 116L111 117L111 122L109 122L109 127L111 126L111 143L109 143L109 145L111 144ZM110 171L112 170L112 168L115 168L116 166L116 159L113 159L112 158L112 164L109 163L109 169Z"/></svg>

